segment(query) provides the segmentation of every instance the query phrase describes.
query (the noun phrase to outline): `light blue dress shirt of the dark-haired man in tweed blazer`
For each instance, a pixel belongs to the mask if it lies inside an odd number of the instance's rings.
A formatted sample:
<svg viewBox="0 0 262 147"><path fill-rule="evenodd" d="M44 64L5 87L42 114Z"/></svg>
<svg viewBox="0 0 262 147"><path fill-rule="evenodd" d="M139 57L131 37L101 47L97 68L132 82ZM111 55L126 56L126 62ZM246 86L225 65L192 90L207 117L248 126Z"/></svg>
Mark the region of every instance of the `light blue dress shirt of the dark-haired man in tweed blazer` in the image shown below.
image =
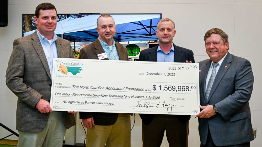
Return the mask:
<svg viewBox="0 0 262 147"><path fill-rule="evenodd" d="M36 30L36 32L42 44L43 50L45 52L46 60L52 77L53 59L58 57L57 48L56 48L56 40L57 40L56 33L54 33L53 39L47 40L47 38L41 35L38 30Z"/></svg>

